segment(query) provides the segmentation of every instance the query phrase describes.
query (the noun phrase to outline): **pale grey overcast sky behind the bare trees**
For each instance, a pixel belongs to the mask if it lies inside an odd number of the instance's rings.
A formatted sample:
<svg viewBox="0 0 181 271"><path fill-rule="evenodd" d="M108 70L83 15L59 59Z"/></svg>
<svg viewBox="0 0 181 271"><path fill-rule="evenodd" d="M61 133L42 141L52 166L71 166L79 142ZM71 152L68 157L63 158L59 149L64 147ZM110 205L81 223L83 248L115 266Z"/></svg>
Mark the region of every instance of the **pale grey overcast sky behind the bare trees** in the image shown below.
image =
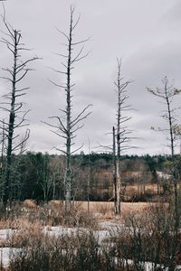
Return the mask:
<svg viewBox="0 0 181 271"><path fill-rule="evenodd" d="M7 0L6 19L22 31L23 42L33 48L30 55L43 58L33 63L35 71L24 79L24 86L31 87L24 98L26 107L31 109L28 150L50 153L53 146L63 145L61 138L41 121L60 115L59 108L65 105L63 89L55 88L49 79L60 83L64 80L50 68L62 69L62 59L55 52L64 52L65 40L56 28L68 31L71 4L76 8L75 16L81 14L75 41L90 37L85 49L90 51L89 56L73 70L72 80L76 84L73 112L76 114L87 104L93 104L92 114L76 138L76 146L83 143L82 150L86 152L89 139L90 151L97 151L98 145L111 144L111 137L106 134L115 123L114 80L117 58L121 58L121 76L133 80L128 87L128 102L135 110L127 115L132 116L128 123L129 129L135 131L132 136L138 137L132 145L139 147L129 150L129 154L167 153L165 135L150 129L165 126L159 117L162 105L146 87L159 87L167 75L171 81L175 80L176 88L181 88L180 0ZM0 44L0 51L1 68L9 66L11 58L5 44ZM8 87L1 79L2 94ZM177 105L179 100L181 97L176 98Z"/></svg>

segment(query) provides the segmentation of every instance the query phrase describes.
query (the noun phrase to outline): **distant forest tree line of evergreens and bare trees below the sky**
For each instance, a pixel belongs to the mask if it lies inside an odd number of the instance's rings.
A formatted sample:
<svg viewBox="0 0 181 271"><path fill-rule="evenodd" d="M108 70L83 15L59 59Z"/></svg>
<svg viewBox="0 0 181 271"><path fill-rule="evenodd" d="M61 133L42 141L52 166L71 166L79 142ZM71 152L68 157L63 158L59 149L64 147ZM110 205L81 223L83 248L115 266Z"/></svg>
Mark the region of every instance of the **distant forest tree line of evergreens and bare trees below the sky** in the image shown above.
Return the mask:
<svg viewBox="0 0 181 271"><path fill-rule="evenodd" d="M1 180L4 178L5 161L1 162ZM122 187L144 187L146 184L162 186L163 196L170 193L171 179L160 179L157 173L169 176L169 155L123 155L120 160ZM64 199L65 156L27 152L13 155L11 183L14 200L51 201ZM71 159L72 200L112 201L112 154L74 154ZM88 180L89 179L89 180ZM90 192L88 195L88 181ZM1 182L3 183L3 182ZM3 198L1 185L1 199ZM132 188L133 189L133 188ZM121 201L151 201L154 192L140 192L135 198ZM148 196L149 198L147 199Z"/></svg>

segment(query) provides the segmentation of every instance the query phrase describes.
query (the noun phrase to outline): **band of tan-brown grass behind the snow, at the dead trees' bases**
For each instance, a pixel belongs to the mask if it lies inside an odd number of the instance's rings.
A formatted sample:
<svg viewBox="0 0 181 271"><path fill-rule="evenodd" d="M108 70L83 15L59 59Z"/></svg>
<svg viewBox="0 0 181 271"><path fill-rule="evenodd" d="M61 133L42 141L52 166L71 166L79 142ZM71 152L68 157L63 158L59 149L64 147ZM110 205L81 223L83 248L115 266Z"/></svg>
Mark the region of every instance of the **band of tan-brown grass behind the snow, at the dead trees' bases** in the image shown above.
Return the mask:
<svg viewBox="0 0 181 271"><path fill-rule="evenodd" d="M121 202L121 217L124 219L129 214L142 214L157 203L149 202ZM17 204L16 204L17 205ZM24 201L14 205L12 213L7 218L0 220L0 229L27 229L26 225L38 223L43 226L64 225L69 227L99 227L99 220L118 220L114 214L114 202L90 201L88 214L87 201L74 201L71 212L66 213L63 201L50 201L42 206L37 206L34 201ZM17 208L16 208L17 207ZM28 226L29 227L29 226Z"/></svg>

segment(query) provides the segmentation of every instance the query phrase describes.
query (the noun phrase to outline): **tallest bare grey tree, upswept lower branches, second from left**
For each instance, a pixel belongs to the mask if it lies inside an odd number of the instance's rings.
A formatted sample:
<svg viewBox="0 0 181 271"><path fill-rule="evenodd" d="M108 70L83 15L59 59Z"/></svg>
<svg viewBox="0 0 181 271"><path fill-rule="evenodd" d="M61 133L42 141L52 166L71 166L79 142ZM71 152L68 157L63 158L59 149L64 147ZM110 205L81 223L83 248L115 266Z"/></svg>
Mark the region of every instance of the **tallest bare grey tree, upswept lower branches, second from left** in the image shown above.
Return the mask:
<svg viewBox="0 0 181 271"><path fill-rule="evenodd" d="M70 27L69 27L69 33L63 33L59 30L59 33L62 33L62 35L66 39L66 48L67 53L62 54L59 53L58 55L61 56L65 61L62 62L63 70L54 70L59 74L62 74L66 77L66 82L62 84L57 84L55 82L52 82L53 85L56 87L59 87L61 89L65 90L65 96L66 96L66 107L65 109L61 109L62 113L64 114L63 117L50 117L52 119L57 120L57 124L52 125L49 123L49 126L52 126L55 128L55 131L52 131L54 134L59 135L65 140L65 150L62 148L56 148L58 151L61 151L66 156L66 170L65 170L65 207L66 210L71 210L71 154L75 153L81 147L72 150L72 145L74 145L74 138L76 136L76 132L81 129L83 125L81 125L81 121L87 118L90 115L90 112L88 112L88 108L84 107L81 112L76 116L72 116L72 88L74 87L74 84L71 83L71 71L74 68L74 64L78 61L81 61L84 59L88 53L83 54L84 49L84 43L88 41L82 40L79 42L73 41L73 33L80 21L80 17L74 22L74 11L75 9L71 6L71 14L70 14ZM76 51L76 47L81 45L81 49Z"/></svg>

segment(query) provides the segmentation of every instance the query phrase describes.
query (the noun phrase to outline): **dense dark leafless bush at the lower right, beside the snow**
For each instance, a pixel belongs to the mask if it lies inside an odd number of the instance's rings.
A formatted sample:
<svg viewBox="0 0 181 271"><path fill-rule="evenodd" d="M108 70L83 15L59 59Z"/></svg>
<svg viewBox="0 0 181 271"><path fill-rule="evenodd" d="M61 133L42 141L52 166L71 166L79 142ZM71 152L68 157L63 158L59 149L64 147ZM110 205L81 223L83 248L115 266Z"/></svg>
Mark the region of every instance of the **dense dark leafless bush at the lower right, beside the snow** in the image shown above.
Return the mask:
<svg viewBox="0 0 181 271"><path fill-rule="evenodd" d="M181 240L174 231L173 212L167 204L152 205L143 214L130 214L123 226L110 232L118 260L132 259L135 270L145 270L145 263L174 270L179 262ZM177 241L177 240L178 241Z"/></svg>

